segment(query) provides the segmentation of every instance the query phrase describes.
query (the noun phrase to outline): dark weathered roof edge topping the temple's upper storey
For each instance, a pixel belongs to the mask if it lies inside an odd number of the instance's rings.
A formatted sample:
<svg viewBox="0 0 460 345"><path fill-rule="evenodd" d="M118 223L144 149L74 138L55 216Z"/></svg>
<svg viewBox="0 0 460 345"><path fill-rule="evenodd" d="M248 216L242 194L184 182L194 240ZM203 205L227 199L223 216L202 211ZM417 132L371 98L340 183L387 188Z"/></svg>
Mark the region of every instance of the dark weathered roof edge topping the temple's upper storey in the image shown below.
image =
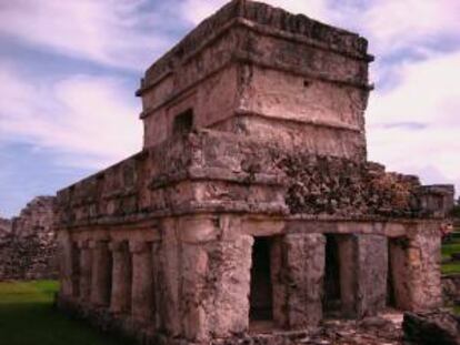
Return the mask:
<svg viewBox="0 0 460 345"><path fill-rule="evenodd" d="M368 41L357 33L324 24L304 14L292 14L280 8L249 0L233 0L202 21L187 34L169 52L158 59L146 72L146 81L158 78L167 70L196 51L204 42L219 32L228 30L233 24L244 24L248 28L260 29L274 35L290 35L300 41L351 55L357 59L372 61L373 57L367 53Z"/></svg>

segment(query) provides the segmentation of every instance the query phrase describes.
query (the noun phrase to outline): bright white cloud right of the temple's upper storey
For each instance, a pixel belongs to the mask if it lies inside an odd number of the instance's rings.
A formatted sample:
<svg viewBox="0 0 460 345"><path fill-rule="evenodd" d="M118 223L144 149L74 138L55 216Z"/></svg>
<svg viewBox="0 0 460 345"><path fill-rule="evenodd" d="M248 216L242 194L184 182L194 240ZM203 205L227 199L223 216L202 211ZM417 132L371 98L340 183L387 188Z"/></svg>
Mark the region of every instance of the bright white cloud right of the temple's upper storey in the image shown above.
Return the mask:
<svg viewBox="0 0 460 345"><path fill-rule="evenodd" d="M370 99L370 158L460 191L460 52L404 63L399 74L394 88Z"/></svg>

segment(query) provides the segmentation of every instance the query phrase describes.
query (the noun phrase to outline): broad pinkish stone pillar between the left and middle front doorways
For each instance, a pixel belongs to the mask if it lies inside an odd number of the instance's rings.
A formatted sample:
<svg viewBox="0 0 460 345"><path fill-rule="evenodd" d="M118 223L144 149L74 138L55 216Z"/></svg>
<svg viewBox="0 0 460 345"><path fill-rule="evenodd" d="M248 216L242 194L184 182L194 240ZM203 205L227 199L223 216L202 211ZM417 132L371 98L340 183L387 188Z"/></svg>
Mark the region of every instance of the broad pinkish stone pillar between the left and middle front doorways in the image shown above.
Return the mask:
<svg viewBox="0 0 460 345"><path fill-rule="evenodd" d="M321 234L284 236L286 313L290 329L316 326L322 318L324 246Z"/></svg>

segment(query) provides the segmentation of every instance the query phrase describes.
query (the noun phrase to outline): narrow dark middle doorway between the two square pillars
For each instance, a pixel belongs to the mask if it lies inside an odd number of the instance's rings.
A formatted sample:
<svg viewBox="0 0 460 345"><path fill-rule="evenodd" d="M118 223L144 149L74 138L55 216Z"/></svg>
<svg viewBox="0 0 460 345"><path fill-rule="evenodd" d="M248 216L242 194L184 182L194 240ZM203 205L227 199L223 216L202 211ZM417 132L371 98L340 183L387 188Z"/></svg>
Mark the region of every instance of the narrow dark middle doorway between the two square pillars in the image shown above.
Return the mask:
<svg viewBox="0 0 460 345"><path fill-rule="evenodd" d="M337 236L326 235L324 296L323 310L328 316L341 312L340 295L340 258ZM339 316L339 315L337 315Z"/></svg>

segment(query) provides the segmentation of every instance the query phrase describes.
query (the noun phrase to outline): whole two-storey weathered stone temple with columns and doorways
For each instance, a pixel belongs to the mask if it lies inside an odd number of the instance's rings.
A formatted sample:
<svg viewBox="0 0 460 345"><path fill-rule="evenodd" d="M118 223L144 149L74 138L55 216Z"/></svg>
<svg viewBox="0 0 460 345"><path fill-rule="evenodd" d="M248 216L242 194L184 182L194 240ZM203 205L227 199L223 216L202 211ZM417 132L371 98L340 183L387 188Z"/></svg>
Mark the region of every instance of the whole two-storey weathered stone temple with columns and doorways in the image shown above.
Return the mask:
<svg viewBox="0 0 460 345"><path fill-rule="evenodd" d="M143 150L58 193L59 306L154 344L439 306L451 191L367 161L371 61L258 2L203 21L141 81Z"/></svg>

